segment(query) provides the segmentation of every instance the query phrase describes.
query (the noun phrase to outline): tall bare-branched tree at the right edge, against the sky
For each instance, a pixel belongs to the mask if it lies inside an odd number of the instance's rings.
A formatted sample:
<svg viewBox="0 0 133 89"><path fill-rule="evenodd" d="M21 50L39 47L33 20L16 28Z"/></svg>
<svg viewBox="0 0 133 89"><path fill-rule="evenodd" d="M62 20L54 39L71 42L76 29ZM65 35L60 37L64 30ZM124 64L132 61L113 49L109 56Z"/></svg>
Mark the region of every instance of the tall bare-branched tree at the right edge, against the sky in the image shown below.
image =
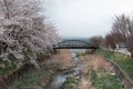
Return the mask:
<svg viewBox="0 0 133 89"><path fill-rule="evenodd" d="M123 36L124 43L133 57L133 20L124 14L116 17L112 29Z"/></svg>

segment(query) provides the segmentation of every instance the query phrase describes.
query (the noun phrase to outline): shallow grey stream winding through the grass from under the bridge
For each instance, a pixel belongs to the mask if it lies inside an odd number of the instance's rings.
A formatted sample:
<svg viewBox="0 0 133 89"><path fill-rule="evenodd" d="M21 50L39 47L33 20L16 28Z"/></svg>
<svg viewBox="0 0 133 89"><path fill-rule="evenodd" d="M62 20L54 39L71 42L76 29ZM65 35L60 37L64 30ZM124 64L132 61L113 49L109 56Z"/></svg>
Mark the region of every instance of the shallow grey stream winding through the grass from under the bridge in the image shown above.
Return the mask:
<svg viewBox="0 0 133 89"><path fill-rule="evenodd" d="M50 89L61 89L62 83L66 80L68 77L80 78L82 61L76 57L76 53L83 52L84 50L73 50L72 49L70 51L71 51L71 57L72 57L72 62L75 63L75 67L63 70L63 71L59 71L54 76L54 78L50 85Z"/></svg>

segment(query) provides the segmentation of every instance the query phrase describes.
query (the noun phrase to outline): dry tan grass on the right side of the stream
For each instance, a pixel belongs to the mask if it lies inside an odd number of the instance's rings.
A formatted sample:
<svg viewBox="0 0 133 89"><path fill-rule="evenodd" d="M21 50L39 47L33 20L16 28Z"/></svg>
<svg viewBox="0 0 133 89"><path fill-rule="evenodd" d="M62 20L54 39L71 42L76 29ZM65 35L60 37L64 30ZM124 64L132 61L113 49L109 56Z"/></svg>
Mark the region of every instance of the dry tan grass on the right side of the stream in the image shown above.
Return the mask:
<svg viewBox="0 0 133 89"><path fill-rule="evenodd" d="M111 71L110 65L108 65L103 57L99 55L86 55L86 56L80 56L80 59L83 62L82 68L82 77L80 79L80 85L72 88L72 89L93 89L91 87L91 80L86 79L83 75L88 72L88 69L90 67L93 67L94 70L98 70L99 68L104 68L108 71Z"/></svg>

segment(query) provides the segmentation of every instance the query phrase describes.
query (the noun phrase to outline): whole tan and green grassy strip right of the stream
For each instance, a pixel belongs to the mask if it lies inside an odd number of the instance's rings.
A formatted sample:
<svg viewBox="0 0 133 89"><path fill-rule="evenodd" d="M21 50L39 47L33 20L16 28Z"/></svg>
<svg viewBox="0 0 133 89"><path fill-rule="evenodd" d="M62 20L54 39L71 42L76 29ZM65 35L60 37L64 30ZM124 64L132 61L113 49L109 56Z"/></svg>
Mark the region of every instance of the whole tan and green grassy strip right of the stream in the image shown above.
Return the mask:
<svg viewBox="0 0 133 89"><path fill-rule="evenodd" d="M115 76L111 75L111 68L104 59L98 55L83 55L81 78L68 78L63 89L122 89Z"/></svg>

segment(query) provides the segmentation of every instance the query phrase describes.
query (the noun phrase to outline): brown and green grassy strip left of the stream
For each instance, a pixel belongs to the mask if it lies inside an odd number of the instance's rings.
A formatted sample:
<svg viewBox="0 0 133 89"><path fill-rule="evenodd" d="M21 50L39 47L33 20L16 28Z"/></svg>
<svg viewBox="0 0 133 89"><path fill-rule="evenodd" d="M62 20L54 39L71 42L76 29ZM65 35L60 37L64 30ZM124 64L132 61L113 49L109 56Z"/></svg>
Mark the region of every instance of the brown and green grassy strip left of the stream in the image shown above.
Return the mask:
<svg viewBox="0 0 133 89"><path fill-rule="evenodd" d="M41 57L42 60L44 59ZM62 69L73 66L69 50L60 50L59 53L40 62L40 69L30 69L10 89L49 89L53 76Z"/></svg>

